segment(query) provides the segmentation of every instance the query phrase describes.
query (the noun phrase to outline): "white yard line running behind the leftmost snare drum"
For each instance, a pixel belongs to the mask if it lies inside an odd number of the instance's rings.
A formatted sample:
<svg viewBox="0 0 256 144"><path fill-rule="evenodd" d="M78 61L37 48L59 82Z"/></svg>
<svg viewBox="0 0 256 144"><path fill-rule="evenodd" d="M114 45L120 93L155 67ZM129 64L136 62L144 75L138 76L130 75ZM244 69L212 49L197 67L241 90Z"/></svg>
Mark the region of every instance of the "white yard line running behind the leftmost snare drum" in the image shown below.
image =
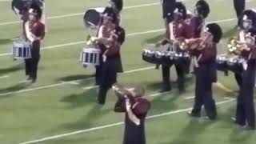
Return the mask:
<svg viewBox="0 0 256 144"><path fill-rule="evenodd" d="M229 18L229 19L222 19L222 20L217 20L217 21L211 21L211 22L230 22L230 21L234 21L236 18ZM210 22L208 22L210 23ZM127 37L131 37L131 36L136 36L136 35L142 35L142 34L152 34L152 33L158 33L161 31L164 31L165 29L157 29L157 30L147 30L147 31L142 31L142 32L136 32L136 33L130 33L127 34ZM65 43L65 44L60 44L60 45L54 45L54 46L45 46L42 47L42 50L48 50L48 49L56 49L56 48L60 48L63 46L74 46L74 45L79 45L79 44L83 44L86 43L86 41L79 41L79 42L69 42L69 43ZM2 53L0 54L0 57L2 56L7 56L7 55L11 55L12 53Z"/></svg>

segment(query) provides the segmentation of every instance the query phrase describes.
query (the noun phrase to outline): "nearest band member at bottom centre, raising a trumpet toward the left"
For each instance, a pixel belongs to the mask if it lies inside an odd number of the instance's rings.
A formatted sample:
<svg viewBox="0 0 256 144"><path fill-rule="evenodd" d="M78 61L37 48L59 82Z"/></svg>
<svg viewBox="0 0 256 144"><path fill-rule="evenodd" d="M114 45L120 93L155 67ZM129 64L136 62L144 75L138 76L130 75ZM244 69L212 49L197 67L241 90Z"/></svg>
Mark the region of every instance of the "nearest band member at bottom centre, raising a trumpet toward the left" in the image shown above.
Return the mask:
<svg viewBox="0 0 256 144"><path fill-rule="evenodd" d="M120 90L113 86L118 102L114 106L115 112L126 113L125 133L123 144L146 144L145 119L150 110L150 102L146 99L142 86Z"/></svg>

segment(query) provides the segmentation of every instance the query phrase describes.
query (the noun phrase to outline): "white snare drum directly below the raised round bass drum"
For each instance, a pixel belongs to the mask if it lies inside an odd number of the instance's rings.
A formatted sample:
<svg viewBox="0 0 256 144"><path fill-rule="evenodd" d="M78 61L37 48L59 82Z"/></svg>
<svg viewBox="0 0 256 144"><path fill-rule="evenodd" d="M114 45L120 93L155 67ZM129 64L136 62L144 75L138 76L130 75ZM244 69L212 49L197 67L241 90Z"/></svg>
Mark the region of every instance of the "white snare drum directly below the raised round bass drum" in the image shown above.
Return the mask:
<svg viewBox="0 0 256 144"><path fill-rule="evenodd" d="M80 62L86 66L98 66L101 50L96 48L84 48L80 55Z"/></svg>

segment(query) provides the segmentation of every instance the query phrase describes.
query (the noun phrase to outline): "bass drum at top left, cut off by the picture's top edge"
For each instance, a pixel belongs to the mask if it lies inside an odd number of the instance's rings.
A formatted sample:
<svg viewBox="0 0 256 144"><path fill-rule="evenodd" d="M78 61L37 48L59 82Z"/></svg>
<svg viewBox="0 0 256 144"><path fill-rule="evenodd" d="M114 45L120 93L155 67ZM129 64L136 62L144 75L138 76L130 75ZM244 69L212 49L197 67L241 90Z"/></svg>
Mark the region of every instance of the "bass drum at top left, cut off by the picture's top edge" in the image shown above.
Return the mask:
<svg viewBox="0 0 256 144"><path fill-rule="evenodd" d="M33 2L43 9L44 0L13 0L11 2L11 9L15 14L23 15L30 8Z"/></svg>

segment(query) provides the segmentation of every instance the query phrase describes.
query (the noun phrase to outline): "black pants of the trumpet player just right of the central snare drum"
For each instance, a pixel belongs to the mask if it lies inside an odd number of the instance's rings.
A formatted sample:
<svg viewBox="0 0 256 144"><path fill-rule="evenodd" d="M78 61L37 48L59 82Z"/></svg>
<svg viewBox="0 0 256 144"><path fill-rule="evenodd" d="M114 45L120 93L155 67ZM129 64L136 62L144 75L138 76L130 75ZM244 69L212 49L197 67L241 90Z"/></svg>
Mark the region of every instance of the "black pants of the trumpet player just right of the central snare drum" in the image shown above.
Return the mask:
<svg viewBox="0 0 256 144"><path fill-rule="evenodd" d="M117 82L117 65L116 59L109 59L103 62L99 67L98 81L98 102L100 104L105 104L107 91L110 90L112 85Z"/></svg>

